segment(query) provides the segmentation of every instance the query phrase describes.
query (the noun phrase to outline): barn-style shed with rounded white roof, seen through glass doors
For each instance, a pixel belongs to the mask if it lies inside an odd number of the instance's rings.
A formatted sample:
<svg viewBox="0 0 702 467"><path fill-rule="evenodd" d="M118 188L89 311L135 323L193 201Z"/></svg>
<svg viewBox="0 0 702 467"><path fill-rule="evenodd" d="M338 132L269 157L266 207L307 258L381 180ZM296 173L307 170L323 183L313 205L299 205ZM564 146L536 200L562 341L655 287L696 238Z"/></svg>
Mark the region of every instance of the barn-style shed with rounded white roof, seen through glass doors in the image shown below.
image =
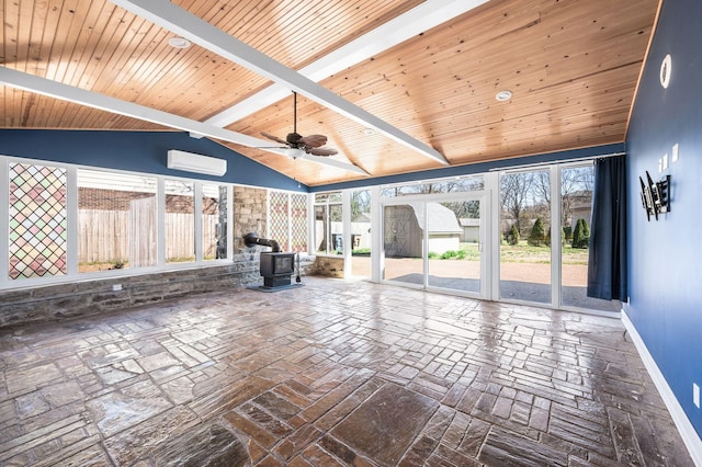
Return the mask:
<svg viewBox="0 0 702 467"><path fill-rule="evenodd" d="M421 205L385 207L385 255L421 258L423 213ZM427 251L442 254L458 250L463 229L453 210L439 203L427 203L429 218Z"/></svg>

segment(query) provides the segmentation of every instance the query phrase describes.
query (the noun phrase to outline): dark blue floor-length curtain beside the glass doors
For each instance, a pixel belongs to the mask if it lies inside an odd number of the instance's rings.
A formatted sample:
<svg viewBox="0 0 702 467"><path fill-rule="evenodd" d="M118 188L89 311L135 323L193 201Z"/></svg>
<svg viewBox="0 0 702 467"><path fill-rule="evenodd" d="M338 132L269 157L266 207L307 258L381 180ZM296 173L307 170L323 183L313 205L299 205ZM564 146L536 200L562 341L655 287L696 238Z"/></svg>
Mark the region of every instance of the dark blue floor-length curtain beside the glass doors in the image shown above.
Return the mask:
<svg viewBox="0 0 702 467"><path fill-rule="evenodd" d="M626 166L624 156L595 162L588 297L626 300Z"/></svg>

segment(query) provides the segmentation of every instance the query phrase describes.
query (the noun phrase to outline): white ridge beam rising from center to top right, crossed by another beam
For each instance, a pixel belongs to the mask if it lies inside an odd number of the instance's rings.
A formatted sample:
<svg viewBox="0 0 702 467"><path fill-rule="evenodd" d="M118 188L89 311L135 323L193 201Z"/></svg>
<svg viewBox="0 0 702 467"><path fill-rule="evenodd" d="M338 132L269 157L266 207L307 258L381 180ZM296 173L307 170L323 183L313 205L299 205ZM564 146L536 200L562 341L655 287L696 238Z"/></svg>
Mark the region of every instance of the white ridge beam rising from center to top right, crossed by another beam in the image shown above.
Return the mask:
<svg viewBox="0 0 702 467"><path fill-rule="evenodd" d="M317 61L301 68L304 77L319 82L349 67L367 60L449 20L467 13L487 0L427 0L418 7L337 48ZM225 127L290 95L281 84L272 84L231 107L207 118L212 125Z"/></svg>

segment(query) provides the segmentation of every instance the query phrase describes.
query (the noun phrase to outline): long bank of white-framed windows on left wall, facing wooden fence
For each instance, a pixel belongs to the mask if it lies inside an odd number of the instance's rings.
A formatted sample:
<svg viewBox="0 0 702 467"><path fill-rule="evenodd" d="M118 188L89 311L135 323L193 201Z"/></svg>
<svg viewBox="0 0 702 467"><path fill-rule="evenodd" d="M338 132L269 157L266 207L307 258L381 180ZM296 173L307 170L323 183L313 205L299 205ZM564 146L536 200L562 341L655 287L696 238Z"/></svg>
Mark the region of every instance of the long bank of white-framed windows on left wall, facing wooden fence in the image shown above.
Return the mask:
<svg viewBox="0 0 702 467"><path fill-rule="evenodd" d="M0 289L229 255L229 185L9 157L0 174Z"/></svg>

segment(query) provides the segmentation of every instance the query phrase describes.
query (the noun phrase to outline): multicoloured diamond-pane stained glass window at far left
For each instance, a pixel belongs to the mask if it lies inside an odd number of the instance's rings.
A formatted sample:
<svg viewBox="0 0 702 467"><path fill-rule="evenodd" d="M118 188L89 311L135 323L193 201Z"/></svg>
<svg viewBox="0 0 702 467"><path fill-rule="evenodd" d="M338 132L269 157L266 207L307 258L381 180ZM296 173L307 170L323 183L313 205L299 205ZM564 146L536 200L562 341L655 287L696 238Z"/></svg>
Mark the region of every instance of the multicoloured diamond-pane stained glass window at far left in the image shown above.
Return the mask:
<svg viewBox="0 0 702 467"><path fill-rule="evenodd" d="M10 164L10 278L66 274L66 170Z"/></svg>

